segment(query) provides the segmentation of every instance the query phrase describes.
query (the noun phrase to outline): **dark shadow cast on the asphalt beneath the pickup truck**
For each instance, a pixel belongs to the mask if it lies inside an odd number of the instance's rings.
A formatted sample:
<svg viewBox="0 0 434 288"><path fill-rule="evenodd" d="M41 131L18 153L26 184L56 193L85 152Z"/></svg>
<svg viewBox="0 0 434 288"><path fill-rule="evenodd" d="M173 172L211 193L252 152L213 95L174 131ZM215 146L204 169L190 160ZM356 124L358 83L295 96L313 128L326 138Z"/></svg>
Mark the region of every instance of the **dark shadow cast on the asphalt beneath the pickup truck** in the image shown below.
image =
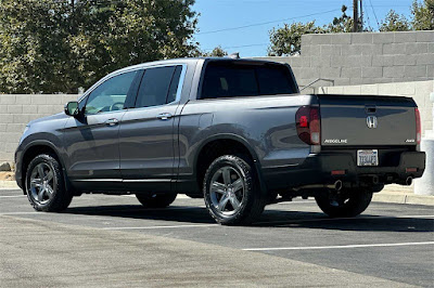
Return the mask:
<svg viewBox="0 0 434 288"><path fill-rule="evenodd" d="M123 219L159 220L182 224L215 223L204 207L170 206L165 209L145 209L137 205L113 205L72 207L65 210L64 213L104 215ZM267 209L259 221L253 223L252 226L257 228L312 228L423 233L434 232L434 219L423 217L385 217L369 213L363 213L350 219L332 219L320 212Z"/></svg>

